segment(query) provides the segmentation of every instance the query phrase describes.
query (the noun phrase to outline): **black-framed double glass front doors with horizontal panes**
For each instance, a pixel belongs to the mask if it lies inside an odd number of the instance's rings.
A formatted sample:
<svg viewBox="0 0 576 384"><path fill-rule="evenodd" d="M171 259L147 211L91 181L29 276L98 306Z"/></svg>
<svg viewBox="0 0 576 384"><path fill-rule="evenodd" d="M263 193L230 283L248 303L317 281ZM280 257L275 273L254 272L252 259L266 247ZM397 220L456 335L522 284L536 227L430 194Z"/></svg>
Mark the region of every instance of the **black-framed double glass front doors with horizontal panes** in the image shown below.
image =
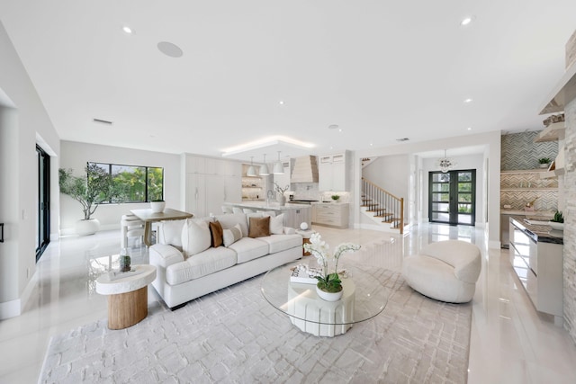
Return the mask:
<svg viewBox="0 0 576 384"><path fill-rule="evenodd" d="M476 170L430 172L428 220L473 226L476 221Z"/></svg>

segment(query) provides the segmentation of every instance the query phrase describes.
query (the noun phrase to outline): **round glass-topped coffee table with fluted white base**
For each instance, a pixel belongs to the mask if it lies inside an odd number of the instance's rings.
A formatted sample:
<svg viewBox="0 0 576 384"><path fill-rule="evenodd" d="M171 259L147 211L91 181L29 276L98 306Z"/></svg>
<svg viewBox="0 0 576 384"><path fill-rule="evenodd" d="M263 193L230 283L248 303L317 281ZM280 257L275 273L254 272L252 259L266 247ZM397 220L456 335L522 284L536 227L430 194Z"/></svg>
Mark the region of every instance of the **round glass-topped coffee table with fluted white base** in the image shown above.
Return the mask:
<svg viewBox="0 0 576 384"><path fill-rule="evenodd" d="M342 335L356 323L371 319L386 307L390 291L370 272L374 267L340 263L344 294L338 301L320 299L315 283L290 281L298 264L317 267L315 260L298 261L276 267L264 276L262 295L272 306L290 317L294 326L317 336Z"/></svg>

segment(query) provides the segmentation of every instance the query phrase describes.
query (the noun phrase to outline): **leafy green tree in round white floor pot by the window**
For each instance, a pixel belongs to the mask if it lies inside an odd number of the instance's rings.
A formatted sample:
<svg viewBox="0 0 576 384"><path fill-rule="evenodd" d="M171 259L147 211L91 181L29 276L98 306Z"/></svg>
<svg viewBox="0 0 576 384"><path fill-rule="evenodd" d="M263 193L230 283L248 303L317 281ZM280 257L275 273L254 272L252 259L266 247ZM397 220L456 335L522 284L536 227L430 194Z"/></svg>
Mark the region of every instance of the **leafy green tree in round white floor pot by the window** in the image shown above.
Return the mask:
<svg viewBox="0 0 576 384"><path fill-rule="evenodd" d="M85 167L85 173L85 176L75 176L71 169L58 169L60 192L82 205L84 219L76 222L76 233L80 236L94 235L100 229L98 219L92 218L98 204L121 195L114 192L112 177L107 170L89 164Z"/></svg>

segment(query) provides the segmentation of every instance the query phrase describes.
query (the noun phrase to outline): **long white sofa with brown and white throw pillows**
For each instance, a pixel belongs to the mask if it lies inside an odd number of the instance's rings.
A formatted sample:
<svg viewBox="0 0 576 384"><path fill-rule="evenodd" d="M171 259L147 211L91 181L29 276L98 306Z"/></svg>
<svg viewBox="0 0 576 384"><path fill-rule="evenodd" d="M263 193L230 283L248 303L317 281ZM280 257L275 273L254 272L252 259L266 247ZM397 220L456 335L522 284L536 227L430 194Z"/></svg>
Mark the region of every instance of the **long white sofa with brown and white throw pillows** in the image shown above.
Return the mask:
<svg viewBox="0 0 576 384"><path fill-rule="evenodd" d="M284 228L281 216L265 215L231 213L160 223L149 254L150 264L157 267L152 285L166 305L179 308L301 258L302 236Z"/></svg>

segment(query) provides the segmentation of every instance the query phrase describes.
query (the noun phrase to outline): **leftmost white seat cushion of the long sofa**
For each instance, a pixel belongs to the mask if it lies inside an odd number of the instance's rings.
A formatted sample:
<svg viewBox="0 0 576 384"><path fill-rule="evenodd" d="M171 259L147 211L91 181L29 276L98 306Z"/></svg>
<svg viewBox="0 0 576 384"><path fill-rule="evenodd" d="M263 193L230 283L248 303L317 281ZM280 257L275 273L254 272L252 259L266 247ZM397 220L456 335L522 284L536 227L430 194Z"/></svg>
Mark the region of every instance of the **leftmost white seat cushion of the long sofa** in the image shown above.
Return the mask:
<svg viewBox="0 0 576 384"><path fill-rule="evenodd" d="M182 263L175 263L166 268L166 282L170 285L198 279L213 272L236 264L236 252L220 246L209 248L204 252L189 257Z"/></svg>

